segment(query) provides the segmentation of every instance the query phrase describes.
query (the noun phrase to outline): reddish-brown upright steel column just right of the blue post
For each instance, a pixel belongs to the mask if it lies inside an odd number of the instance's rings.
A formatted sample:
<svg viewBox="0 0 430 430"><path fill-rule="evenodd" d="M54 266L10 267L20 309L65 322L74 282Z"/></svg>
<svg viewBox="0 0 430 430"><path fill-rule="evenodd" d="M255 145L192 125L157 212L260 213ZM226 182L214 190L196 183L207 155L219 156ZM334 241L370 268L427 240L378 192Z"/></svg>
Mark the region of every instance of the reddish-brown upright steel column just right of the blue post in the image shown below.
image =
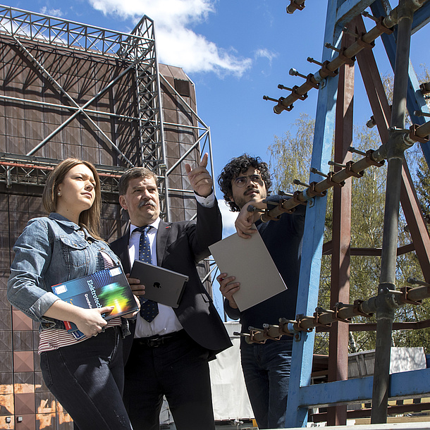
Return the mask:
<svg viewBox="0 0 430 430"><path fill-rule="evenodd" d="M344 34L343 47L352 43L352 37ZM336 104L336 128L334 161L346 164L351 160L354 106L354 63L345 64L339 70L338 99ZM339 171L340 167L335 167ZM333 188L333 254L331 255L331 309L338 302L350 300L350 238L351 238L351 179L343 187ZM328 381L348 379L348 324L333 323L330 328L328 351ZM346 424L346 405L328 407L329 426Z"/></svg>

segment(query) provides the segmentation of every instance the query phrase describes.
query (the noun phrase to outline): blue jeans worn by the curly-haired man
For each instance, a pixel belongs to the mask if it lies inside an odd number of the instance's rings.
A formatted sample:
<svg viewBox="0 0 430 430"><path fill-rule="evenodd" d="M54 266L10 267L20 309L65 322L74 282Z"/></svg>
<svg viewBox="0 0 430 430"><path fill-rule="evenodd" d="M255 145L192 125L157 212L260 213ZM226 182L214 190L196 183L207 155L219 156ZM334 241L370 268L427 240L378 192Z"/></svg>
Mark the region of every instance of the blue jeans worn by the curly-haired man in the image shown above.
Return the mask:
<svg viewBox="0 0 430 430"><path fill-rule="evenodd" d="M242 343L240 357L252 411L259 429L285 428L293 340Z"/></svg>

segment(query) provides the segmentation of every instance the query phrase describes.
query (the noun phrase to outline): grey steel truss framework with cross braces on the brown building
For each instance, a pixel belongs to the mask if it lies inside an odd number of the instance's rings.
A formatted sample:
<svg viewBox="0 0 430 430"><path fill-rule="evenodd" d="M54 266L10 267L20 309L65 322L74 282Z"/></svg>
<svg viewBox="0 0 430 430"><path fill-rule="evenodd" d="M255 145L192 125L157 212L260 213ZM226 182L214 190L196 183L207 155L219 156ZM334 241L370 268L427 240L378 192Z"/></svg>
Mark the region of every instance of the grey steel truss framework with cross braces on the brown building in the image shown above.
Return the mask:
<svg viewBox="0 0 430 430"><path fill-rule="evenodd" d="M134 164L118 148L106 133L99 127L91 116L105 116L111 118L121 118L137 123L138 138L140 144L140 165L147 166L155 171L159 177L160 206L161 214L166 220L171 219L168 195L171 191L190 192L189 190L176 190L168 187L168 176L173 169L182 162L192 149L207 148L211 155L211 139L209 127L199 118L197 112L193 110L185 99L178 94L160 73L158 59L155 49L154 22L147 16L142 17L135 29L130 33L106 30L101 27L75 23L61 18L46 16L41 13L23 11L18 8L0 6L0 37L16 45L20 52L32 63L48 82L61 93L70 105L53 104L42 102L41 100L26 99L23 97L10 97L0 94L0 100L5 102L17 102L20 104L34 104L37 106L53 107L63 109L69 113L61 125L47 137L41 140L35 147L27 152L26 156L14 154L1 154L0 156L0 182L6 183L8 187L12 183L26 183L27 185L40 185L43 182L47 171L41 174L45 168L48 170L55 166L59 160L43 159L35 157L35 153L47 145L47 143L57 135L63 128L78 116L83 116L85 121L97 130L104 140L123 160L125 168L133 167ZM57 51L64 52L65 55L73 52L99 56L124 63L122 72L104 85L97 94L85 104L78 104L63 86L54 78L44 65L32 54L31 47L45 46ZM124 115L121 112L102 111L100 109L90 109L100 97L106 94L113 85L116 84L127 73L134 73L137 89L137 116ZM166 147L164 142L164 120L161 105L161 85L160 80L168 87L171 94L180 100L188 109L192 125L178 123L166 123L175 125L178 130L193 130L196 142L190 149L180 156L180 159L172 166L166 166ZM210 164L213 175L213 161L210 156ZM114 168L111 166L98 166L102 173L102 183L104 191L114 192L118 182L118 177L125 168ZM38 172L36 175L35 172Z"/></svg>

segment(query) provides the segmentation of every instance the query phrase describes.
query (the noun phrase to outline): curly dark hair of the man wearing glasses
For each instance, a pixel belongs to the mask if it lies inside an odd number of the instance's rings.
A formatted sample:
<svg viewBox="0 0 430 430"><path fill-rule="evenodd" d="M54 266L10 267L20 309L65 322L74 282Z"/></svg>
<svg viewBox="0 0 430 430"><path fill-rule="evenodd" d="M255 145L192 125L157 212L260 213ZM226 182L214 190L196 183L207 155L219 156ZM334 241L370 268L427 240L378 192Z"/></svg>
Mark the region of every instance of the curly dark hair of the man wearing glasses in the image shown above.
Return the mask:
<svg viewBox="0 0 430 430"><path fill-rule="evenodd" d="M262 179L264 180L264 184L266 185L267 195L270 195L271 177L267 163L264 163L259 156L252 157L248 154L243 154L231 159L221 171L218 177L218 185L220 190L223 192L224 200L226 200L230 205L230 209L233 212L239 212L240 207L238 207L235 202L231 201L231 196L233 195L231 181L234 178L237 178L240 173L246 173L250 167L254 167L259 171Z"/></svg>

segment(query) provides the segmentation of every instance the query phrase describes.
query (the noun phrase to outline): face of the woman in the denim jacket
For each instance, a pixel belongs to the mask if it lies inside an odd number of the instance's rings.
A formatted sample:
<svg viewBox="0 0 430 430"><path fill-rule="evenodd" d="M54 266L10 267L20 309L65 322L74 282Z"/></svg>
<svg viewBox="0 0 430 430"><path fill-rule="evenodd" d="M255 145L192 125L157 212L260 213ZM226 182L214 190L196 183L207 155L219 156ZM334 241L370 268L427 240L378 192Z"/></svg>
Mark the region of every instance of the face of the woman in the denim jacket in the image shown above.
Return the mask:
<svg viewBox="0 0 430 430"><path fill-rule="evenodd" d="M80 213L90 209L94 203L95 185L94 175L85 164L70 168L57 189L56 211L72 221L73 214L79 218Z"/></svg>

